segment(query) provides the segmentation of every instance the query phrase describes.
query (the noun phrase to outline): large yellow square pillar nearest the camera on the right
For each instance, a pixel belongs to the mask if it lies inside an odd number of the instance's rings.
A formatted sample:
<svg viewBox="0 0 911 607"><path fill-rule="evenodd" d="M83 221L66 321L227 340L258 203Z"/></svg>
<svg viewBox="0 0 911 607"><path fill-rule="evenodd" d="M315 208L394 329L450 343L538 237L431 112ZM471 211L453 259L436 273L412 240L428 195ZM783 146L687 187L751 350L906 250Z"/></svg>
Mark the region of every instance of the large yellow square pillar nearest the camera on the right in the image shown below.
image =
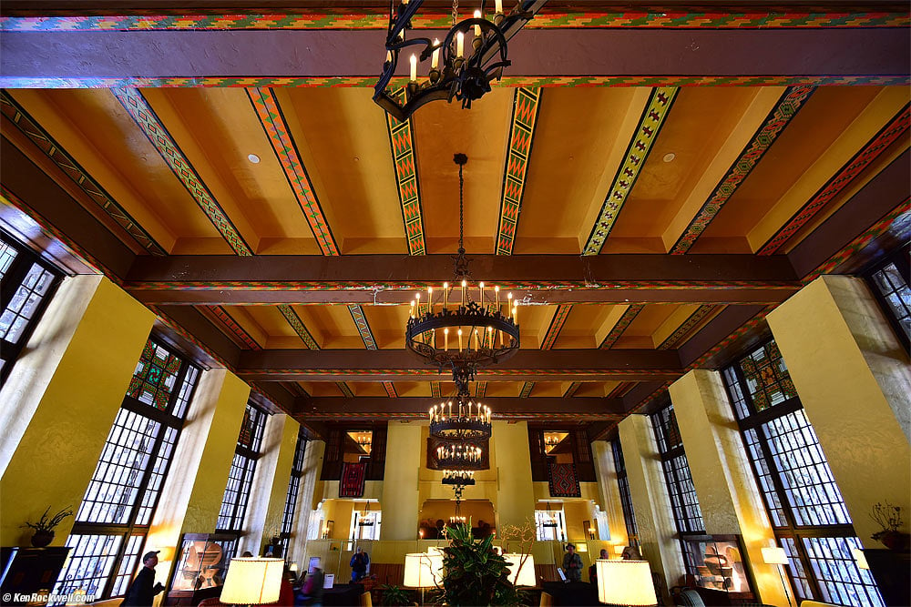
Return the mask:
<svg viewBox="0 0 911 607"><path fill-rule="evenodd" d="M767 320L857 536L879 548L873 505L911 511L907 353L860 278L816 278Z"/></svg>

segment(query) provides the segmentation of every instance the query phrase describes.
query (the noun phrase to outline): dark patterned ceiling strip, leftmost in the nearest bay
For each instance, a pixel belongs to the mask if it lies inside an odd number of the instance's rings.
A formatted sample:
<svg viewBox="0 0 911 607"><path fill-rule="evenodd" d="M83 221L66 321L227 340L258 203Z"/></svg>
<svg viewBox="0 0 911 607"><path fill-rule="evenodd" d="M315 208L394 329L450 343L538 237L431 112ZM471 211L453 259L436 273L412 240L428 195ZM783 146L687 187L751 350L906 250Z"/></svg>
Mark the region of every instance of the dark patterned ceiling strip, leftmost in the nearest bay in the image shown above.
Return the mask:
<svg viewBox="0 0 911 607"><path fill-rule="evenodd" d="M107 217L113 219L120 228L127 232L137 244L152 255L167 255L164 248L156 242L155 238L139 225L129 213L121 207L114 198L107 193L104 187L90 176L86 169L77 163L67 151L51 137L47 131L30 116L22 106L15 102L13 97L0 91L0 111L38 147L45 156L60 168L76 186L81 189L89 199L97 204ZM116 235L115 235L116 236Z"/></svg>

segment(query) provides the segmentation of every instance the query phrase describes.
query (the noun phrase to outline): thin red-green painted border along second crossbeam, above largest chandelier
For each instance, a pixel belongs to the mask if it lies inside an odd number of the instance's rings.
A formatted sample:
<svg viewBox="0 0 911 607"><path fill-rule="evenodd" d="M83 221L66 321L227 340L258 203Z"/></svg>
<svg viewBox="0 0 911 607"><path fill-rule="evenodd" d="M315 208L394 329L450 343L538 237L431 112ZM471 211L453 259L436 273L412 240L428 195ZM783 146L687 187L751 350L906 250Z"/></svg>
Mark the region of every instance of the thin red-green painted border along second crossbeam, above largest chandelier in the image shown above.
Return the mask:
<svg viewBox="0 0 911 607"><path fill-rule="evenodd" d="M149 290L181 290L181 291L408 291L427 287L438 287L439 282L410 281L366 283L358 281L321 281L321 280L147 280L130 282L127 288L130 291ZM573 290L603 291L626 289L636 291L650 290L687 290L702 288L706 290L731 290L740 288L762 288L766 290L794 290L799 288L795 281L790 280L615 280L599 282L593 285L585 280L560 280L558 282L545 282L542 280L525 280L521 282L498 282L501 289L548 289L548 290ZM743 303L738 302L738 303ZM271 304L269 304L271 305Z"/></svg>

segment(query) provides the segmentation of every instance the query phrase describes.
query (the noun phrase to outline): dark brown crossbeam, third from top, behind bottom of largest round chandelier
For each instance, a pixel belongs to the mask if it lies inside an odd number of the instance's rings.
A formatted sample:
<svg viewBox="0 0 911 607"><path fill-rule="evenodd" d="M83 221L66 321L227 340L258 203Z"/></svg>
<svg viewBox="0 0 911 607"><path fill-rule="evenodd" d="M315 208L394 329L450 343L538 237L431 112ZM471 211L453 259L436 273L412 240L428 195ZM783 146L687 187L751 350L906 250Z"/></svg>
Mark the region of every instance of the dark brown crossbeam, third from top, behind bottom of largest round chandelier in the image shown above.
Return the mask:
<svg viewBox="0 0 911 607"><path fill-rule="evenodd" d="M520 350L478 380L598 381L677 379L682 374L676 350ZM236 367L243 379L257 381L435 381L448 371L425 366L405 350L304 349L245 350Z"/></svg>

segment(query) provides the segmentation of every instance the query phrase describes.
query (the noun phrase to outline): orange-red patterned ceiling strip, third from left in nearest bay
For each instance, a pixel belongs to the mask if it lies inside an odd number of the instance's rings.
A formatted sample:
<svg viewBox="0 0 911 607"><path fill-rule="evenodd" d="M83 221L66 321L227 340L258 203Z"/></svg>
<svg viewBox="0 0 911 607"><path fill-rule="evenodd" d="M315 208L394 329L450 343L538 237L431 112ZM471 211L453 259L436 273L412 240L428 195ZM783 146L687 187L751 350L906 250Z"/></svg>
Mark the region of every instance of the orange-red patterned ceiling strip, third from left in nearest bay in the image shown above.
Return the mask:
<svg viewBox="0 0 911 607"><path fill-rule="evenodd" d="M245 90L256 116L260 119L262 130L266 132L266 137L269 137L272 151L275 152L275 157L278 158L281 169L288 179L288 185L291 186L294 197L297 198L297 203L301 206L307 223L310 224L313 238L316 238L320 245L322 254L339 255L333 230L329 228L320 200L313 191L307 167L303 166L297 144L291 136L291 129L285 121L284 114L281 113L278 99L269 88L254 87Z"/></svg>

